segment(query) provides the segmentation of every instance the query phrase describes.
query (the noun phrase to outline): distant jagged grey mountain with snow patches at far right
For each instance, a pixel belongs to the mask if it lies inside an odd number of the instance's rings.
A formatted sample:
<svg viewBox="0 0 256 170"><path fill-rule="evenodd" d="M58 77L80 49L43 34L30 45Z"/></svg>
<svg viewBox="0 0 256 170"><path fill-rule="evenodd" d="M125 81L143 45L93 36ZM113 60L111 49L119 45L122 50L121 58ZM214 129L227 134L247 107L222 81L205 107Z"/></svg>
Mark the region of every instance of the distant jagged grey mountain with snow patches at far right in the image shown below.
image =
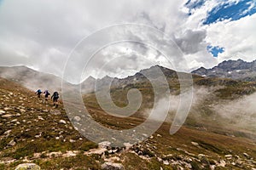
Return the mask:
<svg viewBox="0 0 256 170"><path fill-rule="evenodd" d="M211 69L201 67L191 73L203 77L222 77L235 80L256 81L256 60L246 62L241 59L224 61Z"/></svg>

